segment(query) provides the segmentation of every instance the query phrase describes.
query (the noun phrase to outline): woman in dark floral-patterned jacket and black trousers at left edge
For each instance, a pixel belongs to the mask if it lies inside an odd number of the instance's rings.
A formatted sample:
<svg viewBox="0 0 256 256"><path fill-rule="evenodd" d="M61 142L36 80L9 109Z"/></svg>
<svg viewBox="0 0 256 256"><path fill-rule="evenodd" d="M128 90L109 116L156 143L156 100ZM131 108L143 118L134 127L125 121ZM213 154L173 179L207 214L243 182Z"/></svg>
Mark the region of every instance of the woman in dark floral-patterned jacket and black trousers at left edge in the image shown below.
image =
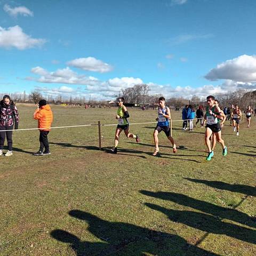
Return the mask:
<svg viewBox="0 0 256 256"><path fill-rule="evenodd" d="M13 130L13 128L17 130L18 124L19 113L17 107L9 95L4 95L3 100L0 102L0 156L3 155L5 137L8 145L8 151L5 156L12 155L12 131L8 130Z"/></svg>

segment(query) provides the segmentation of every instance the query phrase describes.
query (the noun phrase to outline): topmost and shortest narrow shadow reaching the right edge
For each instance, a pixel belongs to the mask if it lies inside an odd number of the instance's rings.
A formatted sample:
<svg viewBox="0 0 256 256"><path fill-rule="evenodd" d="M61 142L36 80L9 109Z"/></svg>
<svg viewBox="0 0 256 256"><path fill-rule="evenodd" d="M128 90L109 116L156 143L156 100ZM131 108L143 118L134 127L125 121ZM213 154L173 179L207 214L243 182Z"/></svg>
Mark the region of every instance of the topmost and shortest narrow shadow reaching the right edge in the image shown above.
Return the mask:
<svg viewBox="0 0 256 256"><path fill-rule="evenodd" d="M198 179L191 179L191 178L184 178L184 179L193 181L196 183L202 183L209 187L213 187L217 189L228 190L231 192L237 192L237 193L241 193L249 196L256 196L256 187L251 187L251 186L242 185L242 184L233 185L233 184L229 184L222 181L198 180Z"/></svg>

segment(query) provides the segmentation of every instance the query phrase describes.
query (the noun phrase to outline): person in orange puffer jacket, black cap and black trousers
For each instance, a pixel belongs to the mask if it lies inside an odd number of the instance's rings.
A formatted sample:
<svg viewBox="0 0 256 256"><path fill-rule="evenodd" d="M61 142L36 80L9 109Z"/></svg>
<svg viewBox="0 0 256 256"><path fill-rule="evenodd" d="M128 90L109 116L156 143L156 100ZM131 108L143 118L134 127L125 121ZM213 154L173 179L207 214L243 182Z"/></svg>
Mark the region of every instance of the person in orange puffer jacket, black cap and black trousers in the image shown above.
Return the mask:
<svg viewBox="0 0 256 256"><path fill-rule="evenodd" d="M47 105L46 100L41 100L38 103L38 107L34 113L34 119L38 120L38 128L40 129L39 142L40 148L34 153L35 156L50 155L49 143L47 135L51 130L51 125L53 121L52 110L49 105ZM45 150L44 150L45 149ZM43 151L44 150L44 151Z"/></svg>

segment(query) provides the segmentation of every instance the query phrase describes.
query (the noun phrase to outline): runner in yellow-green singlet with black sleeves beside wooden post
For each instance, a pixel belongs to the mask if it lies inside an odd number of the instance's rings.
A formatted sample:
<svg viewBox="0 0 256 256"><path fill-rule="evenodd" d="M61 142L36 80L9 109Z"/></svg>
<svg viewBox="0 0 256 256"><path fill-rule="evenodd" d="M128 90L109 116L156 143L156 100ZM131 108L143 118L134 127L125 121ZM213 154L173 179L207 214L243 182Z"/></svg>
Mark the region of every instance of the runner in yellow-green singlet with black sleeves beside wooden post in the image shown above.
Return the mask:
<svg viewBox="0 0 256 256"><path fill-rule="evenodd" d="M127 108L123 105L124 103L124 98L118 98L116 101L117 106L119 107L117 109L117 115L116 119L118 121L117 127L116 127L116 134L115 134L115 148L111 149L111 151L114 154L117 154L117 146L119 142L119 135L120 133L124 130L124 133L127 138L135 138L136 142L140 142L139 135L134 135L130 133L129 131L129 123L127 121L127 118L130 117Z"/></svg>

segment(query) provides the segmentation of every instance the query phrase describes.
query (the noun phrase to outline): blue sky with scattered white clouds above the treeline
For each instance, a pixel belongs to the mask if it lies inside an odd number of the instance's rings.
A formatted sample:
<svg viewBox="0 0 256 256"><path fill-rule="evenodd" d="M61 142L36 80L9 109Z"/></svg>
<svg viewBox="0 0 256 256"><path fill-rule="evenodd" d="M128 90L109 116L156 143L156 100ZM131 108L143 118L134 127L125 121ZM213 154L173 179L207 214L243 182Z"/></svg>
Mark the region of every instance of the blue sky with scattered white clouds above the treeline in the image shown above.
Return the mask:
<svg viewBox="0 0 256 256"><path fill-rule="evenodd" d="M256 90L255 0L0 0L0 93Z"/></svg>

